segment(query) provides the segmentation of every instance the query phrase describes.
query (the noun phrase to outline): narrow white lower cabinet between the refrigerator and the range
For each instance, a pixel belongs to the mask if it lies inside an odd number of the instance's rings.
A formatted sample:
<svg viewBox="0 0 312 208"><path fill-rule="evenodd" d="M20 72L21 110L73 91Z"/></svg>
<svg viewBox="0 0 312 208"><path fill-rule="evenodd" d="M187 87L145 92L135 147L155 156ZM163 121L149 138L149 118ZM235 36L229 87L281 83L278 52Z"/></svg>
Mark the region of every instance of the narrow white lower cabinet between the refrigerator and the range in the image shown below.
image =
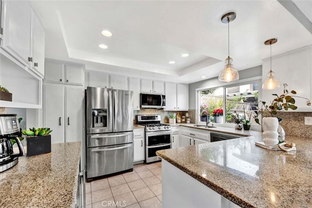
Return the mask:
<svg viewBox="0 0 312 208"><path fill-rule="evenodd" d="M145 159L144 128L133 130L133 162L143 161Z"/></svg>

